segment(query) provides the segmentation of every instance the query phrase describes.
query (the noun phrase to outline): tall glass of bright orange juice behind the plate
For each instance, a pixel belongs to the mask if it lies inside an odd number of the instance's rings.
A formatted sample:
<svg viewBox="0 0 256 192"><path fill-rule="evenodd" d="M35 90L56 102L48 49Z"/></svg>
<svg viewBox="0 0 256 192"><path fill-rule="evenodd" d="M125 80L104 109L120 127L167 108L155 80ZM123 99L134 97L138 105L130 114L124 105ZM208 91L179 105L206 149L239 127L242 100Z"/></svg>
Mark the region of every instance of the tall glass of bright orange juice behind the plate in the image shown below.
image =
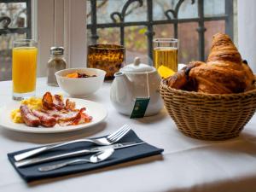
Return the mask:
<svg viewBox="0 0 256 192"><path fill-rule="evenodd" d="M13 99L34 96L37 79L38 47L32 39L16 40L13 44Z"/></svg>

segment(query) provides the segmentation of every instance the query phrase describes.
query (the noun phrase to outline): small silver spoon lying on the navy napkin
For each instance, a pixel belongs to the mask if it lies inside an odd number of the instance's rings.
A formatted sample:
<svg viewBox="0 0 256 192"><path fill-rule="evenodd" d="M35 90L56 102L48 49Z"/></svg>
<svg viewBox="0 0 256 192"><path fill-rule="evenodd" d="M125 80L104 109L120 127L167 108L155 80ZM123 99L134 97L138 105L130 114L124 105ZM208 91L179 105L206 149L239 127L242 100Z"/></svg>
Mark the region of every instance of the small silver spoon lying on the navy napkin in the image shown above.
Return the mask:
<svg viewBox="0 0 256 192"><path fill-rule="evenodd" d="M66 162L58 163L58 164L51 165L51 166L41 166L38 168L38 171L49 172L49 171L59 169L64 166L71 166L71 165L75 165L75 164L99 163L99 162L102 162L103 160L107 160L108 157L110 157L113 154L113 152L114 152L113 148L109 148L107 150L100 151L96 154L91 155L89 160L88 159L68 160Z"/></svg>

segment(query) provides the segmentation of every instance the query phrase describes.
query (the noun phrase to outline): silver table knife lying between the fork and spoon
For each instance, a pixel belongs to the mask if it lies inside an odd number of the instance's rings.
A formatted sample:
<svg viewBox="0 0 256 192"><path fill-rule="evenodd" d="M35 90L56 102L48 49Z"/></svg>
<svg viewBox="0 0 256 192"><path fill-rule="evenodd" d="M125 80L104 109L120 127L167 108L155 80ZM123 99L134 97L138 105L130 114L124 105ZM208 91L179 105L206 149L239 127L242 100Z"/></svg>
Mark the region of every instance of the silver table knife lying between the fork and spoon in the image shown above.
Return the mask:
<svg viewBox="0 0 256 192"><path fill-rule="evenodd" d="M129 148L129 147L140 145L140 144L143 144L143 142L141 142L141 143L136 143L136 142L115 143L113 145L108 145L108 146L83 149L83 150L68 152L68 153L64 153L64 154L55 154L55 155L49 156L49 157L37 157L37 158L28 159L28 160L20 160L18 162L15 162L15 166L16 167L32 166L34 164L38 164L38 163L42 163L42 162L61 160L61 159L67 158L67 157L74 157L74 156L79 156L82 154L92 154L92 153L96 153L96 152L106 150L109 148L113 148L113 149Z"/></svg>

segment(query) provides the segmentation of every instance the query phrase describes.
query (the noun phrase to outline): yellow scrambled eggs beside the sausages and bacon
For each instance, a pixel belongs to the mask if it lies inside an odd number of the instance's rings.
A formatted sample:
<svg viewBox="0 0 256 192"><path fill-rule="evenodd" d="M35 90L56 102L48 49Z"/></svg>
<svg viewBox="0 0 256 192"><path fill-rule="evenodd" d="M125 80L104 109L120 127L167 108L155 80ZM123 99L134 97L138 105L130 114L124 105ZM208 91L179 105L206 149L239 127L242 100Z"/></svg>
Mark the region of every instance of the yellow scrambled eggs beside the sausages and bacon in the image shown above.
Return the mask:
<svg viewBox="0 0 256 192"><path fill-rule="evenodd" d="M31 109L40 109L43 108L42 105L42 98L37 98L37 97L31 97L29 99L26 100L22 100L20 102L20 104L25 104L28 106L28 108ZM21 114L20 114L20 108L14 109L11 112L11 119L15 122L15 123L23 123L23 119L21 118Z"/></svg>

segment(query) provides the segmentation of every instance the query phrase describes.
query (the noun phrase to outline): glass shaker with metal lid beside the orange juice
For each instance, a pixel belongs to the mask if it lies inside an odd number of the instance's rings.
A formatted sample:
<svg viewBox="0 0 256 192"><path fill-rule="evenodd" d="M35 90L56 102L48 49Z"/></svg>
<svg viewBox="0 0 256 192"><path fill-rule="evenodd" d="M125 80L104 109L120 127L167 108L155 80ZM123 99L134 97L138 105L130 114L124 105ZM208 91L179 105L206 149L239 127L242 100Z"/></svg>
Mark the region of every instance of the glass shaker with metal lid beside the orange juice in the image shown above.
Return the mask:
<svg viewBox="0 0 256 192"><path fill-rule="evenodd" d="M58 86L55 78L55 72L65 69L67 62L64 59L63 47L51 47L50 58L47 64L47 84L50 86Z"/></svg>

